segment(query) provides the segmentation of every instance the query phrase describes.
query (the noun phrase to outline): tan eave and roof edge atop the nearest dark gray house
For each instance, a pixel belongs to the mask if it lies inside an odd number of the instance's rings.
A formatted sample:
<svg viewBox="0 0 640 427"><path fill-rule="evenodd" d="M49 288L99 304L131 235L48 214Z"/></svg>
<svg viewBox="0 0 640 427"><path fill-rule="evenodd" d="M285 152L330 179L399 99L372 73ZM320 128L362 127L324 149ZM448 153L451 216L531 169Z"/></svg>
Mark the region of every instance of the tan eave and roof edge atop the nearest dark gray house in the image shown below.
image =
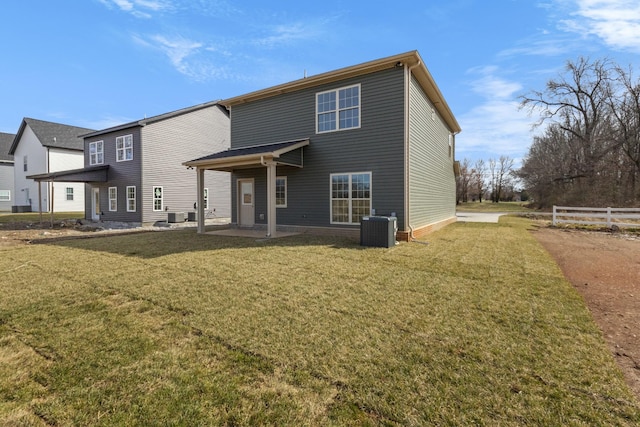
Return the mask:
<svg viewBox="0 0 640 427"><path fill-rule="evenodd" d="M348 78L362 76L377 71L386 70L393 67L407 67L416 78L422 89L425 91L435 108L438 110L444 121L453 133L460 132L460 125L453 116L449 105L436 85L431 73L427 69L418 51L410 51L399 55L389 56L375 61L365 62L351 67L341 68L327 73L318 74L303 79L294 80L289 83L273 86L267 89L250 92L245 95L236 96L220 101L220 104L230 108L234 105L266 99L284 93L296 92L303 89L320 86L326 83L339 82Z"/></svg>

